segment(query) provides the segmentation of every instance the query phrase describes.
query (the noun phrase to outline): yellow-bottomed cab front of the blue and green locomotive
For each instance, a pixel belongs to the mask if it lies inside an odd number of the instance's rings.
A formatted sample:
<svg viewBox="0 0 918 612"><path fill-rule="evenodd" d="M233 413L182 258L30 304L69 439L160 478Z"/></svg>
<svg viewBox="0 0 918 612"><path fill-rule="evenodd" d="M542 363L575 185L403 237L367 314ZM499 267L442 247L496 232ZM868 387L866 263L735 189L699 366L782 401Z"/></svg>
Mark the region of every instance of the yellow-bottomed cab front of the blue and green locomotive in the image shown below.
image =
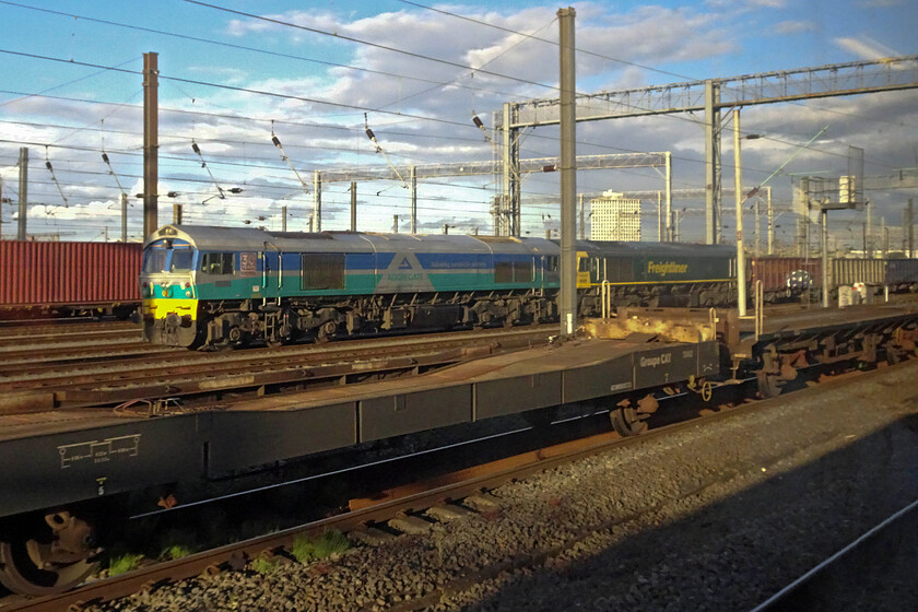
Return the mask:
<svg viewBox="0 0 918 612"><path fill-rule="evenodd" d="M191 346L198 338L196 258L190 238L170 225L143 247L141 316L143 336L153 344Z"/></svg>

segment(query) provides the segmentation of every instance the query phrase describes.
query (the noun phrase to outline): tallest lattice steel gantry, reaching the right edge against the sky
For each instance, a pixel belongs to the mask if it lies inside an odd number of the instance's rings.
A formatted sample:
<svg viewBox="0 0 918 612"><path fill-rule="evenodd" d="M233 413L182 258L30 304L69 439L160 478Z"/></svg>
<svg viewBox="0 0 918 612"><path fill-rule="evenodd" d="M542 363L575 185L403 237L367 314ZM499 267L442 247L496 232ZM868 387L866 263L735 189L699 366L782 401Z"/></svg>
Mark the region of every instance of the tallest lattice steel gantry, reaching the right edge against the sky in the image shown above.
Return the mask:
<svg viewBox="0 0 918 612"><path fill-rule="evenodd" d="M903 56L580 94L575 105L577 121L704 113L705 237L713 244L720 242L720 109L915 87L918 87L918 56ZM560 114L558 98L511 103L505 105L503 120L495 129L516 133L528 127L557 125ZM513 165L513 160L509 163ZM518 204L510 203L514 207Z"/></svg>

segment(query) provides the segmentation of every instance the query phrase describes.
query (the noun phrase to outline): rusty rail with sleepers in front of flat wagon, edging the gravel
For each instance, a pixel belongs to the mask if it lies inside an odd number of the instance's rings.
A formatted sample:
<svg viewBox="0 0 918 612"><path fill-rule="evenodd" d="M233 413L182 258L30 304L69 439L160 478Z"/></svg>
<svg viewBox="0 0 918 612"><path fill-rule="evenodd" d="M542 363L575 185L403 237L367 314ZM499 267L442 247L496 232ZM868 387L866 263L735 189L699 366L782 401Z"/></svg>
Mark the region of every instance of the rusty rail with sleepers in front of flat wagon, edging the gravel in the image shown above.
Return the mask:
<svg viewBox="0 0 918 612"><path fill-rule="evenodd" d="M893 367L909 367L899 364ZM826 386L844 385L857 377L869 376L870 372L847 372L841 375L826 375L820 382ZM514 480L550 470L573 461L604 454L613 449L624 450L646 444L659 436L688 429L699 424L726 421L767 405L779 405L784 398L746 401L737 405L721 404L717 410L703 411L702 415L650 429L638 436L622 437L614 432L592 435L586 438L556 444L521 455L506 457L486 464L475 466L427 478L421 482L408 483L376 495L352 499L350 509L339 515L310 521L269 536L248 539L238 543L189 555L170 562L143 567L130 574L105 578L80 587L76 590L36 598L28 601L9 600L0 605L2 612L44 612L73 610L113 599L118 599L157 586L191 578L201 574L240 569L251 560L286 554L298 536L316 537L329 530L349 533L351 539L367 543L390 539L391 532L420 533L438 520L451 520L470 511L490 511L494 507L487 496L489 490ZM723 475L722 478L728 478ZM707 486L709 483L703 485ZM642 513L652 511L656 506ZM376 526L386 526L386 530ZM520 563L523 563L520 561ZM434 604L439 592L425 596ZM414 600L412 609L424 605L424 600Z"/></svg>

